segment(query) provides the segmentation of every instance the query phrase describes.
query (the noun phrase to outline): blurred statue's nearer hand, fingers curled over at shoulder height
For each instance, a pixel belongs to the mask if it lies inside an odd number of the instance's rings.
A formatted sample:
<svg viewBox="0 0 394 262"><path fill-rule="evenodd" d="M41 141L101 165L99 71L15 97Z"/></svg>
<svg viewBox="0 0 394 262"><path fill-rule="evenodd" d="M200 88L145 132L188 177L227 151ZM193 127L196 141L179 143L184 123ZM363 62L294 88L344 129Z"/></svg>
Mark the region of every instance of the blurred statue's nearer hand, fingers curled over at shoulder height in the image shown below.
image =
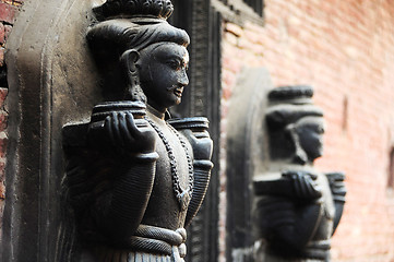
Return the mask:
<svg viewBox="0 0 394 262"><path fill-rule="evenodd" d="M315 200L322 196L322 190L317 181L317 175L307 171L285 171L282 176L292 181L296 198L301 200Z"/></svg>

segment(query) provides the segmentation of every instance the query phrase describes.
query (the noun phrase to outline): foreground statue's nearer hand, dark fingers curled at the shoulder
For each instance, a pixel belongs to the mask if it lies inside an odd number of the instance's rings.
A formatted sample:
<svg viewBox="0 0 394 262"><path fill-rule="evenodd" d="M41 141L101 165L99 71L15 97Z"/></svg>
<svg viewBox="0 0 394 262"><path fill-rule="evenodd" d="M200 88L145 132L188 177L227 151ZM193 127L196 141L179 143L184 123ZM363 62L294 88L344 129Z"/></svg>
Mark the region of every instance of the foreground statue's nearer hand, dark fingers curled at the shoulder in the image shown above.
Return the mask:
<svg viewBox="0 0 394 262"><path fill-rule="evenodd" d="M134 119L131 112L112 112L106 117L104 131L115 148L131 154L155 151L155 130L145 119Z"/></svg>

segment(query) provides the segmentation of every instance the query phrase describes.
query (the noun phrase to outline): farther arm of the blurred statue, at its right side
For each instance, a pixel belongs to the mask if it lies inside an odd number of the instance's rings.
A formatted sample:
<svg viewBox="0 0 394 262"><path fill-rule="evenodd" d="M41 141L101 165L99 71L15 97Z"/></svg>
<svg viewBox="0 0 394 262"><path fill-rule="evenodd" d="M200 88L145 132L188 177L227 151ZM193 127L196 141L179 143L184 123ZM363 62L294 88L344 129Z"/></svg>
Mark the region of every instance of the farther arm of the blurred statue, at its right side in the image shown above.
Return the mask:
<svg viewBox="0 0 394 262"><path fill-rule="evenodd" d="M331 193L333 195L334 204L335 204L335 217L334 217L334 226L333 234L335 233L339 221L342 218L342 214L344 212L344 205L346 201L346 187L345 187L345 174L343 172L327 172L325 174L327 177Z"/></svg>

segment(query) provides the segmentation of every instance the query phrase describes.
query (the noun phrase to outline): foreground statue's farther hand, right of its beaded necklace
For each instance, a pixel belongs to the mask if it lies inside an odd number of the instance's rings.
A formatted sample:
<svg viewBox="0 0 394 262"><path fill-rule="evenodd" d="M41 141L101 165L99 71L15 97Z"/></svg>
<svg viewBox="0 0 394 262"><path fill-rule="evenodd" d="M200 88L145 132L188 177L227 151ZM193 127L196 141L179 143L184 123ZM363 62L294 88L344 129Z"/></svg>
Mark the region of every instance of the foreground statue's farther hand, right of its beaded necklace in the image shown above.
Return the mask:
<svg viewBox="0 0 394 262"><path fill-rule="evenodd" d="M190 129L181 130L181 133L188 138L193 148L194 160L210 160L213 151L213 142L207 131L192 131Z"/></svg>

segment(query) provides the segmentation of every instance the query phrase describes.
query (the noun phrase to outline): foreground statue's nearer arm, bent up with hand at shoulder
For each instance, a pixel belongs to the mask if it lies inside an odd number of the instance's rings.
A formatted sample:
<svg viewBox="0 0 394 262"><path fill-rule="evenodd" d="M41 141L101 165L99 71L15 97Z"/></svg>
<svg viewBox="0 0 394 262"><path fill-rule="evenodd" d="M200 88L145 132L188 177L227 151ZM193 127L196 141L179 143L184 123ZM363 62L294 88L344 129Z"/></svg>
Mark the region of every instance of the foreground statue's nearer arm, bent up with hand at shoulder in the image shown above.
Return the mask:
<svg viewBox="0 0 394 262"><path fill-rule="evenodd" d="M107 117L103 130L91 132L107 140L96 142L105 144L102 151L108 151L112 159L111 168L97 169L93 175L110 172L106 177L111 188L95 200L92 214L98 229L112 242L127 245L143 218L153 189L158 158L154 130L145 120L120 112Z"/></svg>

